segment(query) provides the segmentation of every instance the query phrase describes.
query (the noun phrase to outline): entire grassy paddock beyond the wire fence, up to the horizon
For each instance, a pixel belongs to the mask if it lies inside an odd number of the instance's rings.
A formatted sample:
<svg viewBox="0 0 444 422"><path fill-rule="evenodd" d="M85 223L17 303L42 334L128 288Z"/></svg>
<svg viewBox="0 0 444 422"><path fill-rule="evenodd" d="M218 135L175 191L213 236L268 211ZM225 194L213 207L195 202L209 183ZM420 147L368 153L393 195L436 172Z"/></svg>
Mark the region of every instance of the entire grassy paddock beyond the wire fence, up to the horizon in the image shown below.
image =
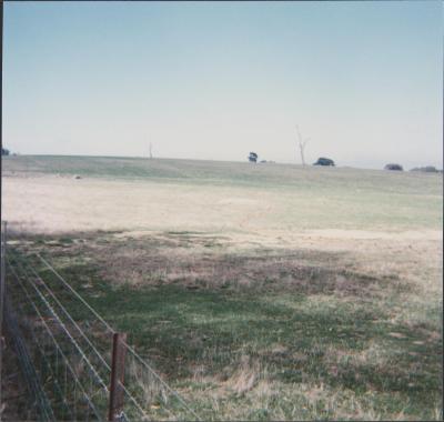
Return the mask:
<svg viewBox="0 0 444 422"><path fill-rule="evenodd" d="M203 419L442 418L441 175L10 157L2 188Z"/></svg>

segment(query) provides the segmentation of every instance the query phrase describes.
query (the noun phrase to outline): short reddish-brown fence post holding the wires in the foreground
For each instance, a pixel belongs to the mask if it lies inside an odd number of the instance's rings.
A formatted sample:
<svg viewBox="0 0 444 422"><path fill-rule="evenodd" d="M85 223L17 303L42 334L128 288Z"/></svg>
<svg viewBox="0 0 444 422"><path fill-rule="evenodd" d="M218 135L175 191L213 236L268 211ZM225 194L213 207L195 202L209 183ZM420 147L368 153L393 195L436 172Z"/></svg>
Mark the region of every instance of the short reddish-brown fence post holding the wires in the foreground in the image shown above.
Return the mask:
<svg viewBox="0 0 444 422"><path fill-rule="evenodd" d="M110 385L110 408L108 413L109 421L118 421L123 410L123 380L124 361L127 354L127 334L114 333L112 336L112 361L111 361L111 385Z"/></svg>

